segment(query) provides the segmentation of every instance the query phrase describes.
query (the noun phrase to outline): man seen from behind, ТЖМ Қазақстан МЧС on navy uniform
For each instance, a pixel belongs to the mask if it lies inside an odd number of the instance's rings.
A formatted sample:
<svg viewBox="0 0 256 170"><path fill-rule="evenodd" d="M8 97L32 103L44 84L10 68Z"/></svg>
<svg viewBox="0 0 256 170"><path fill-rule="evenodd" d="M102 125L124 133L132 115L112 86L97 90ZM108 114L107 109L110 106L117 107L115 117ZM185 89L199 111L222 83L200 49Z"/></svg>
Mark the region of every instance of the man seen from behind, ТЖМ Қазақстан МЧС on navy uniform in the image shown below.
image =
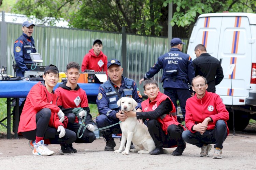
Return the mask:
<svg viewBox="0 0 256 170"><path fill-rule="evenodd" d="M185 118L186 101L191 95L194 95L194 93L190 93L189 86L191 87L195 71L191 57L181 52L183 44L185 43L180 38L173 38L171 40L171 50L157 59L156 64L150 68L150 71L145 74L139 83L141 84L142 81L152 78L162 68L164 94L171 98L176 109L177 99L179 99L182 114Z"/></svg>

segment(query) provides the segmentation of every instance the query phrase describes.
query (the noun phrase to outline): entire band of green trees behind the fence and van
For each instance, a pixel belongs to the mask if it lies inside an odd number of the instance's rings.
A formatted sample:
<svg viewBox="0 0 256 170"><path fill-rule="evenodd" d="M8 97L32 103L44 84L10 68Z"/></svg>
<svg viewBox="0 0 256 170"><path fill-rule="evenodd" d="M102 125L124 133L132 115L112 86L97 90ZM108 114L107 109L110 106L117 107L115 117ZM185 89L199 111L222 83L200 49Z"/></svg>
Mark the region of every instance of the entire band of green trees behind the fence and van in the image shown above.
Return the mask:
<svg viewBox="0 0 256 170"><path fill-rule="evenodd" d="M168 3L173 3L172 36L188 38L203 13L256 12L255 0L18 0L12 12L50 25L64 18L73 28L142 35L168 35ZM45 18L47 17L47 18Z"/></svg>

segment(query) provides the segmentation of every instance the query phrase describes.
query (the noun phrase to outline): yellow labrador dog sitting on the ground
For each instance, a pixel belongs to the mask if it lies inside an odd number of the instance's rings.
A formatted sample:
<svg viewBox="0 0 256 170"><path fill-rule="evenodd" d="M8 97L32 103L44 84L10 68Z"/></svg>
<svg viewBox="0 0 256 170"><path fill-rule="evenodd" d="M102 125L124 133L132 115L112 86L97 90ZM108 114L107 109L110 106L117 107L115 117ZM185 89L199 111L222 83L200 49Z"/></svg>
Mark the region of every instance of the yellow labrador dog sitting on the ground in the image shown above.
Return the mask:
<svg viewBox="0 0 256 170"><path fill-rule="evenodd" d="M122 111L133 110L136 112L135 107L138 105L133 98L122 97L117 101L117 105L121 106ZM149 154L150 151L155 150L155 143L150 136L147 126L144 123L137 121L136 117L127 118L124 122L120 123L122 129L122 141L120 148L115 150L115 153L121 153L125 146L125 150L122 152L124 155L129 154L131 142L135 146L135 149L131 149L131 152L138 152L139 154Z"/></svg>

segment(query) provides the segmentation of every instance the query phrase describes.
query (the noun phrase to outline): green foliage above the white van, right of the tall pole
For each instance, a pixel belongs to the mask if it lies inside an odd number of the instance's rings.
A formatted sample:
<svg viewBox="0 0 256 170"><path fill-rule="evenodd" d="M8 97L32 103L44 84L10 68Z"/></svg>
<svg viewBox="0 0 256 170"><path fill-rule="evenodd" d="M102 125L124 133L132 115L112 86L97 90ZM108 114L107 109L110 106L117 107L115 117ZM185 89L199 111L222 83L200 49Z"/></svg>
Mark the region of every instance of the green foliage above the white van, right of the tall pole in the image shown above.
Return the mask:
<svg viewBox="0 0 256 170"><path fill-rule="evenodd" d="M256 1L247 0L166 0L163 6L173 3L171 25L187 27L194 25L196 18L204 13L256 12Z"/></svg>

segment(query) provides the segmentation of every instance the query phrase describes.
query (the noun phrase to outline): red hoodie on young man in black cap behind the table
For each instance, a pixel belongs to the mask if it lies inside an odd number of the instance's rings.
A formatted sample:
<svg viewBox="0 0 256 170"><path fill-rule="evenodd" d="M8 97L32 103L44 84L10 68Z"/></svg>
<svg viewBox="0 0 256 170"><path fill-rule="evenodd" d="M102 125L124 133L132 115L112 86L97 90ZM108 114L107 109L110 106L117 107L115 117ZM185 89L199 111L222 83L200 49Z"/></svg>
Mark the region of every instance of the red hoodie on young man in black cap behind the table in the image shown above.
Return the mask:
<svg viewBox="0 0 256 170"><path fill-rule="evenodd" d="M89 50L89 53L87 53L84 56L81 71L84 72L85 69L93 69L96 72L103 71L103 72L106 72L107 74L107 71L108 71L107 63L108 63L108 59L103 54L103 52L100 51L99 56L96 56L92 48Z"/></svg>

